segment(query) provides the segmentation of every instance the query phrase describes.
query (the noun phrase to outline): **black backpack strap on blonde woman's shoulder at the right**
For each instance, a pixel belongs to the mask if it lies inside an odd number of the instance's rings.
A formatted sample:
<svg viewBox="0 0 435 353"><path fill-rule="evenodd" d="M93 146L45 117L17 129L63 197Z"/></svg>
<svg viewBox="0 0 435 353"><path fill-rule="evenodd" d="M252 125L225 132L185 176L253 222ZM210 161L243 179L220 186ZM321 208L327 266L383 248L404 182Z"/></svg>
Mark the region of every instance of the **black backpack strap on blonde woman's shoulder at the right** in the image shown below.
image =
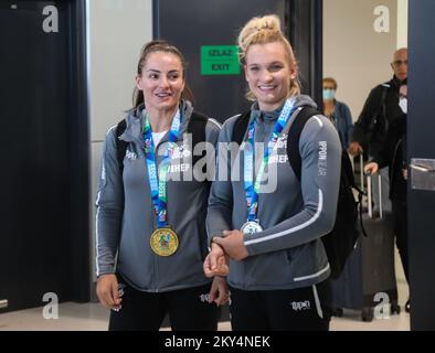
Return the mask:
<svg viewBox="0 0 435 353"><path fill-rule="evenodd" d="M307 121L315 115L320 115L320 113L312 107L304 107L295 117L287 136L288 161L299 181L303 169L303 161L299 153L300 133Z"/></svg>

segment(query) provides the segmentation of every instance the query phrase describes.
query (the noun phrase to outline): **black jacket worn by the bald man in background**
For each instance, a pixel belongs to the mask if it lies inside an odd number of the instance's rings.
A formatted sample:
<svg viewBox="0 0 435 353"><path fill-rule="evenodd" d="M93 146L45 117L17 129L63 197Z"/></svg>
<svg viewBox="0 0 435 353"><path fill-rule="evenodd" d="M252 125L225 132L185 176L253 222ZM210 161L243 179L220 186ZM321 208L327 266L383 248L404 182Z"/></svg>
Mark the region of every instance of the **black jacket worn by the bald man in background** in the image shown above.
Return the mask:
<svg viewBox="0 0 435 353"><path fill-rule="evenodd" d="M399 88L403 84L406 79L401 82L394 76L390 82L374 87L365 100L351 141L358 141L370 156L375 156L382 148L391 122L403 115L399 107Z"/></svg>

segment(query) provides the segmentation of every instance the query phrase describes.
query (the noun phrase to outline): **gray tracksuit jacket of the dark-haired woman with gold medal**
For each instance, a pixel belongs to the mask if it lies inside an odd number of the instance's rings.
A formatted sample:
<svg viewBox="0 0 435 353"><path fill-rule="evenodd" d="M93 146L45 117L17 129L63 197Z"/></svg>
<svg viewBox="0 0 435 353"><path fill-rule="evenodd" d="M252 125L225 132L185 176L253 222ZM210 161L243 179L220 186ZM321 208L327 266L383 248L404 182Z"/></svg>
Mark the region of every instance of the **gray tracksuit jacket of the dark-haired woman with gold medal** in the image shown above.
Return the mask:
<svg viewBox="0 0 435 353"><path fill-rule="evenodd" d="M142 109L127 116L127 128L120 136L120 139L128 142L123 175L117 159L116 128L112 128L106 137L96 201L97 276L117 270L130 286L148 292L205 285L210 279L204 277L202 270L200 237L204 237L205 244L210 188L205 182L191 178L192 165L188 158L191 156L191 148L183 141L193 108L189 101L181 105L181 128L177 141L179 148L176 148L172 156L169 172L171 180L167 183L167 220L179 237L178 250L169 257L160 257L150 248L156 215L144 152ZM213 148L219 132L219 124L210 119L205 126L205 140ZM156 147L158 164L162 160L166 141L168 133ZM214 154L212 157L214 165ZM214 168L209 170L214 173Z"/></svg>

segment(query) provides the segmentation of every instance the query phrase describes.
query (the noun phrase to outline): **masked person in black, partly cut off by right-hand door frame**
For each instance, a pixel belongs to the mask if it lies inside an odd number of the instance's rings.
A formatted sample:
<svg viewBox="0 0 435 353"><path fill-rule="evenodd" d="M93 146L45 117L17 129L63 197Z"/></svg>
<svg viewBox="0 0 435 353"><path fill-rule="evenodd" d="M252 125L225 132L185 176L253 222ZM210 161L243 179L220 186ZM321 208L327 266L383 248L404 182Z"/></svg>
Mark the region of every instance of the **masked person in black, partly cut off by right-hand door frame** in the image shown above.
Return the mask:
<svg viewBox="0 0 435 353"><path fill-rule="evenodd" d="M406 167L406 118L407 118L407 86L400 87L399 107L402 111L391 124L385 141L378 150L373 160L369 162L364 171L374 174L379 169L390 167L390 199L392 202L394 234L396 246L403 264L403 271L407 282L407 167ZM405 311L410 312L410 300L405 304Z"/></svg>

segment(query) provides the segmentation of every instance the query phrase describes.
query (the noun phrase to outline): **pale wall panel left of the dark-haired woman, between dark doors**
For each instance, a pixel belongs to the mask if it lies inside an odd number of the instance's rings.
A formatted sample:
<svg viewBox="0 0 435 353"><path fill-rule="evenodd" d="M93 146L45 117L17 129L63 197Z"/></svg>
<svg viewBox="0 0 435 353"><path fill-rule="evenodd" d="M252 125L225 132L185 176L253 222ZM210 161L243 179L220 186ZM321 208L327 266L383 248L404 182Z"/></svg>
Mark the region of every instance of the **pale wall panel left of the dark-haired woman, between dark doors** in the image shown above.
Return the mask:
<svg viewBox="0 0 435 353"><path fill-rule="evenodd" d="M95 276L95 196L106 131L132 105L137 61L152 39L152 0L87 0L92 184L92 259ZM94 277L95 279L95 277Z"/></svg>

